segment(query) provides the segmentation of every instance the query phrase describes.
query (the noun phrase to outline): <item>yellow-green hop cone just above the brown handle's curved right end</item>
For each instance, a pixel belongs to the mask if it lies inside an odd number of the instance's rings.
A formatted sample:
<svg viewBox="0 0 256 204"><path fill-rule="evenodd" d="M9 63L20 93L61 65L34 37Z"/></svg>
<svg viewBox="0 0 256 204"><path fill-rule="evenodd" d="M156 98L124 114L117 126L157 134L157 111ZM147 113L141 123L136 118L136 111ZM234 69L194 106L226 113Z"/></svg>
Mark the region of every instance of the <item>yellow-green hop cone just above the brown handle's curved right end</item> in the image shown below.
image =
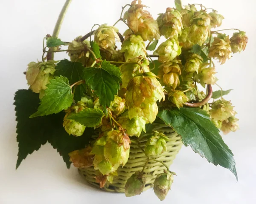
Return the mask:
<svg viewBox="0 0 256 204"><path fill-rule="evenodd" d="M206 64L208 65L208 64ZM198 74L198 79L201 83L202 86L204 86L204 84L215 84L216 81L218 80L215 77L215 74L217 72L215 72L215 67L208 67L208 68L204 68L200 69L200 72Z"/></svg>

